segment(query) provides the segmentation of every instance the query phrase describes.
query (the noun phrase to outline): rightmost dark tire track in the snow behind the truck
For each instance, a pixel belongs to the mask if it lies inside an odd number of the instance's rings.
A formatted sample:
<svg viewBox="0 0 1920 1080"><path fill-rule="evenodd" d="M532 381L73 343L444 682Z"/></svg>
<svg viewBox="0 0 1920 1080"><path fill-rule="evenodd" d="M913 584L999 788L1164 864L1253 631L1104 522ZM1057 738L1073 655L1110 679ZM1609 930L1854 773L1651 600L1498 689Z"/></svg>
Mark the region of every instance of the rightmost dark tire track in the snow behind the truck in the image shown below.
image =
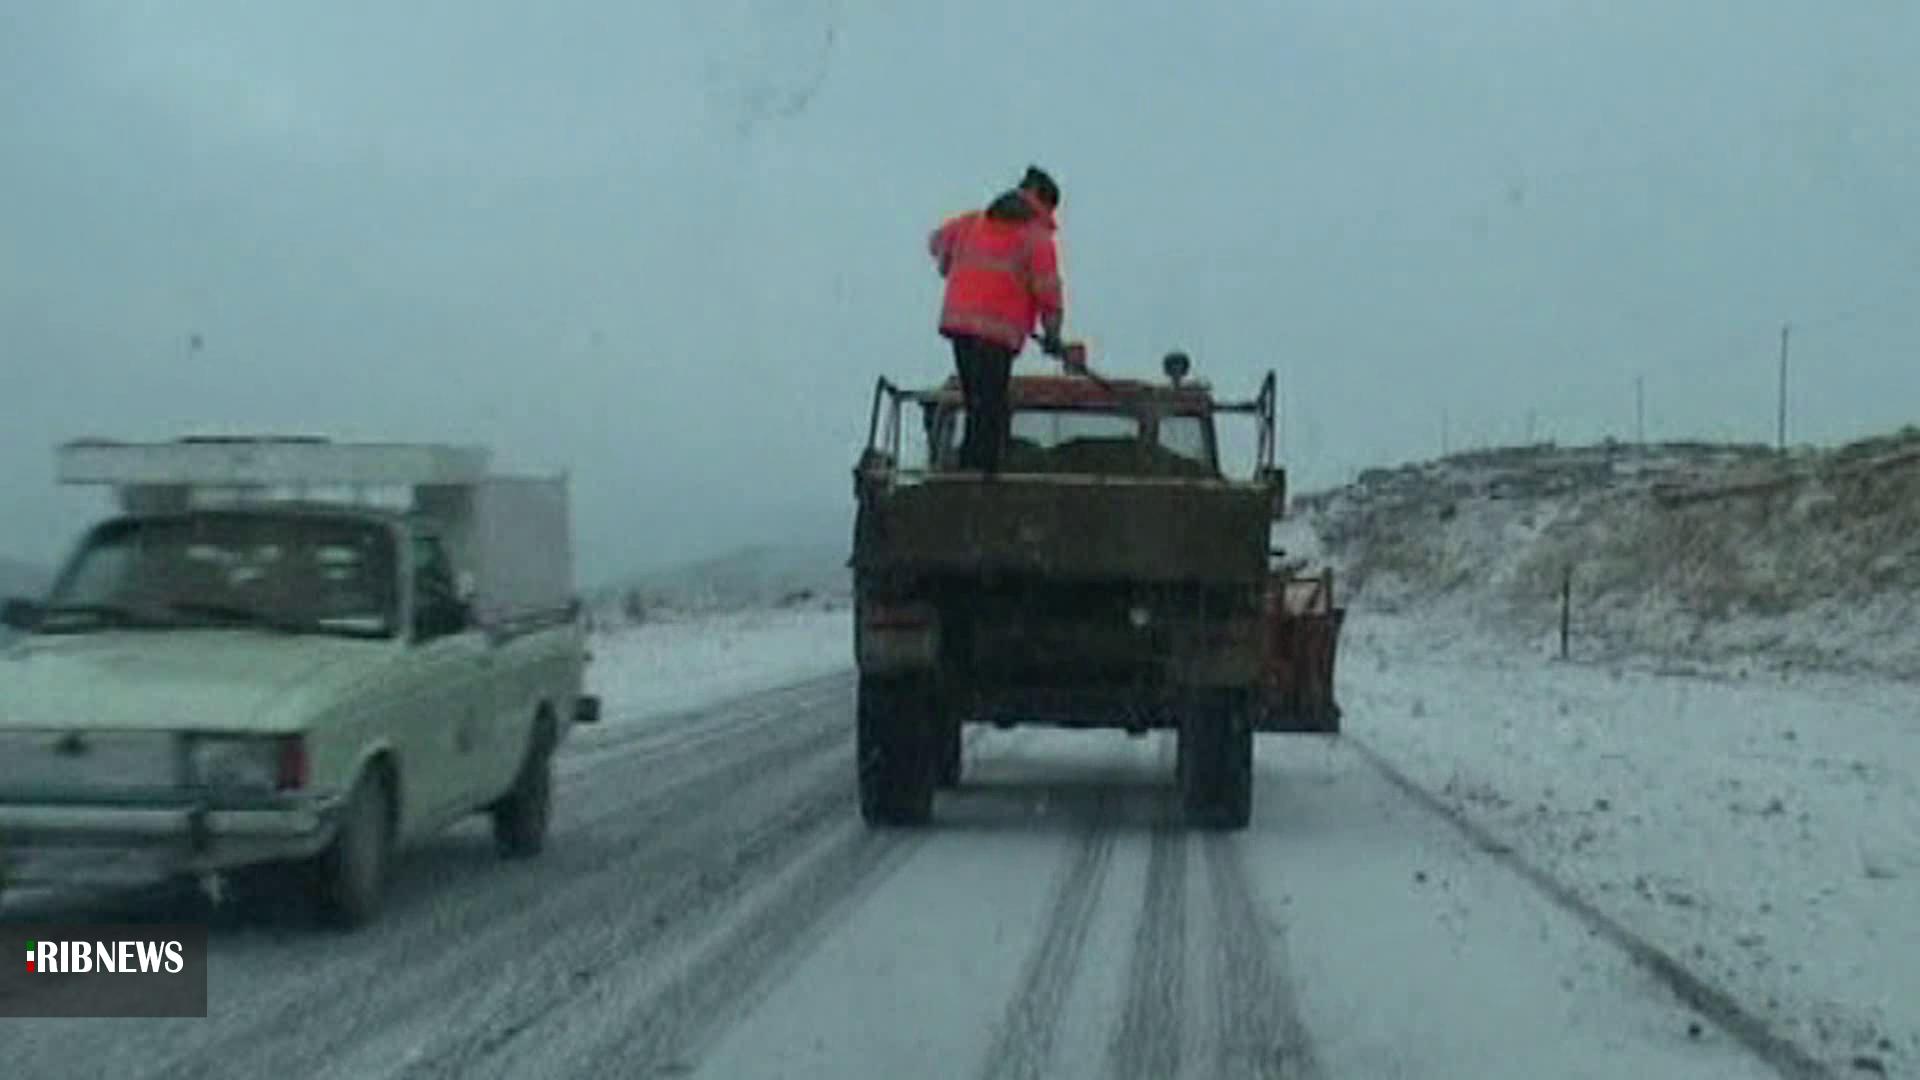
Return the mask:
<svg viewBox="0 0 1920 1080"><path fill-rule="evenodd" d="M1204 840L1208 888L1213 894L1213 1015L1215 1076L1317 1078L1319 1061L1292 986L1275 970L1275 944L1260 917L1254 886L1246 876L1233 836Z"/></svg>

